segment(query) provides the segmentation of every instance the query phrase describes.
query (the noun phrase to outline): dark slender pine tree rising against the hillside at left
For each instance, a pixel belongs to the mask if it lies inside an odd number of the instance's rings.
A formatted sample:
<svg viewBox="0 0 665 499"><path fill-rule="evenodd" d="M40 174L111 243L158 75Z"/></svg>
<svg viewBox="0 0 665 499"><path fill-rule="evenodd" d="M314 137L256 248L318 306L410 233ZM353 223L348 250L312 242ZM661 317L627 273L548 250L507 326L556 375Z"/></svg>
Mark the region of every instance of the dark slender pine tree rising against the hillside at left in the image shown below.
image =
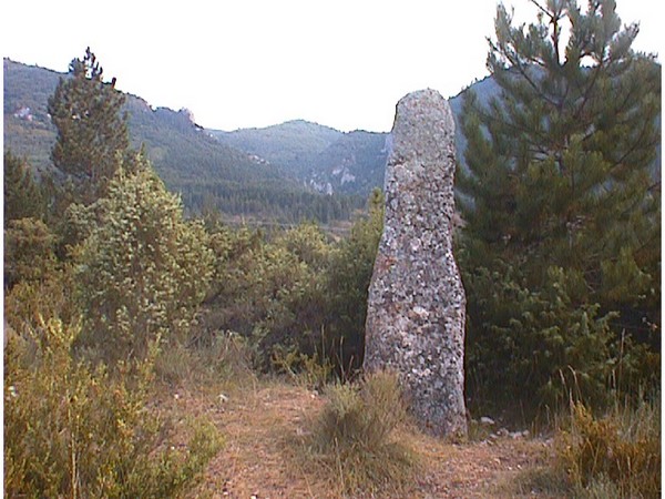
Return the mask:
<svg viewBox="0 0 665 499"><path fill-rule="evenodd" d="M122 155L129 150L127 115L121 113L124 95L88 48L74 59L69 75L60 79L49 99L49 114L58 130L51 159L75 186L74 201L91 203L101 196Z"/></svg>

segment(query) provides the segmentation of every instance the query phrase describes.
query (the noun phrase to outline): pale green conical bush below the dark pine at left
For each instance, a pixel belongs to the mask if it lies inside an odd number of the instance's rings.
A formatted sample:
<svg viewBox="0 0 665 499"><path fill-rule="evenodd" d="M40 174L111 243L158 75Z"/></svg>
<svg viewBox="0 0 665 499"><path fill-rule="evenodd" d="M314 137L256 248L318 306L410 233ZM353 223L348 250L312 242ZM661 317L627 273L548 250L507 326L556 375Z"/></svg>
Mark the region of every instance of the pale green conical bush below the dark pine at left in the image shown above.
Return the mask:
<svg viewBox="0 0 665 499"><path fill-rule="evenodd" d="M183 340L213 271L203 226L185 221L180 198L146 160L136 161L136 172L120 171L92 207L99 220L75 258L82 343L108 363Z"/></svg>

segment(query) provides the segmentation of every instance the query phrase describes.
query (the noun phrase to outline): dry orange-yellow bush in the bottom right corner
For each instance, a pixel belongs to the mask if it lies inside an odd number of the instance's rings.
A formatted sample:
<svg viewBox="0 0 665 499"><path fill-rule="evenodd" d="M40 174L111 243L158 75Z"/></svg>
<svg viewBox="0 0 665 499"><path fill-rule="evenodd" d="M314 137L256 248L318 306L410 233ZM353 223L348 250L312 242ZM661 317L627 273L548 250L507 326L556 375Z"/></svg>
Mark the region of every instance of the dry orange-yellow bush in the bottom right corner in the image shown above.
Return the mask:
<svg viewBox="0 0 665 499"><path fill-rule="evenodd" d="M661 497L659 401L617 405L602 418L575 404L557 458L576 497Z"/></svg>

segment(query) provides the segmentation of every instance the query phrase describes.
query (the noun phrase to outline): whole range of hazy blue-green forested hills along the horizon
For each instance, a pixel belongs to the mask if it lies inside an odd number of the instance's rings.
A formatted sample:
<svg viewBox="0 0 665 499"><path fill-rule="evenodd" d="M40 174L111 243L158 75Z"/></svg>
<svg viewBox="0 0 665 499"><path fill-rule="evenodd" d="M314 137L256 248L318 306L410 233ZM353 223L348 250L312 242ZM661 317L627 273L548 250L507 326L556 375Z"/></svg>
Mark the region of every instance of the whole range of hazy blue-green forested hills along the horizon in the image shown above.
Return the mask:
<svg viewBox="0 0 665 499"><path fill-rule="evenodd" d="M47 100L63 74L7 59L3 69L6 147L48 169L55 132ZM469 90L488 102L499 86L485 78L450 99L461 163L467 141L459 116ZM146 145L155 170L191 210L205 204L231 215L327 222L348 217L383 185L387 133L345 133L303 120L233 132L204 130L186 110L153 110L134 95L127 95L126 110L133 144ZM659 179L659 146L653 171Z"/></svg>

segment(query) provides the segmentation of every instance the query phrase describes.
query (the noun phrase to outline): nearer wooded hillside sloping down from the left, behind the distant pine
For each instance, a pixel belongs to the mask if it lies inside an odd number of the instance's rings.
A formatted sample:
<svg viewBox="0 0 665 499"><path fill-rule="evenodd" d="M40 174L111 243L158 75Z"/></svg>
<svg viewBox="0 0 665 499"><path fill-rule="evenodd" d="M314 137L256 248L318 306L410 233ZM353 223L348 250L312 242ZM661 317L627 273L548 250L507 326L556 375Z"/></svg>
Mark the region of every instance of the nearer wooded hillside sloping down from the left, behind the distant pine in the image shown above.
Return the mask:
<svg viewBox="0 0 665 499"><path fill-rule="evenodd" d="M38 171L48 171L55 130L47 102L65 75L8 59L3 74L4 147L27 157ZM160 176L170 190L183 195L192 211L206 204L229 215L328 222L347 218L360 204L319 194L278 164L221 143L197 126L186 110L153 110L130 94L125 110L132 144L145 144Z"/></svg>

